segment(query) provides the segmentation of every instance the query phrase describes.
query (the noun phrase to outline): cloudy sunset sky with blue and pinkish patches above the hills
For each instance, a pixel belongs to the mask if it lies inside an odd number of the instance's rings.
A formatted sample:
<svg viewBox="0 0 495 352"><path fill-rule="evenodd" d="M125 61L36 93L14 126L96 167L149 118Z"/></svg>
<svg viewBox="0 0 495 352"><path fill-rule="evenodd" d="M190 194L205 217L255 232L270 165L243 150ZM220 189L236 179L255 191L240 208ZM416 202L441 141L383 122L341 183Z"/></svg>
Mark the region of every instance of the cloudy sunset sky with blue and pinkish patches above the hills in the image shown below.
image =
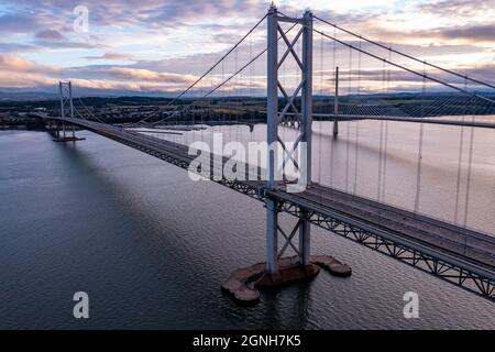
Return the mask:
<svg viewBox="0 0 495 352"><path fill-rule="evenodd" d="M310 9L319 18L421 59L495 81L495 0L278 0L275 4L287 15L299 16ZM80 91L94 94L173 96L221 57L268 7L270 1L256 0L2 0L0 91L56 91L58 80L70 79ZM318 21L315 26L365 45ZM262 23L198 89L208 91L266 47L265 29ZM331 85L337 65L331 62L333 50L332 43L315 35L317 89ZM349 59L346 48L337 52L351 77L358 55ZM262 91L266 65L262 58L223 92ZM360 69L369 77L363 88L373 90L380 63L360 59ZM293 64L287 61L283 79L296 85ZM413 79L396 81L413 85Z"/></svg>

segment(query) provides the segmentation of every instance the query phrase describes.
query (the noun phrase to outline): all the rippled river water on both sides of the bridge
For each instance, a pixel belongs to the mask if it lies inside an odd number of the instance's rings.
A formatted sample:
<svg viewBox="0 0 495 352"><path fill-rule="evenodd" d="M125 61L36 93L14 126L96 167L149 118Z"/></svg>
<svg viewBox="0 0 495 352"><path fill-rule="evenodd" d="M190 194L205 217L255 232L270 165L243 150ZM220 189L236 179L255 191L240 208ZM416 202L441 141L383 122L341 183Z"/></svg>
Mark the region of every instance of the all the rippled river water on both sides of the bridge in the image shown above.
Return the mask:
<svg viewBox="0 0 495 352"><path fill-rule="evenodd" d="M350 191L355 185L376 198L380 123L360 122L359 139L355 125L348 134L342 124L333 146L327 135L316 138L315 148L324 153L314 178ZM328 133L328 125L316 129ZM229 131L248 141L264 127L253 134L245 127ZM80 135L87 140L58 144L43 132L0 132L0 328L495 329L493 302L316 228L312 252L349 263L352 277L321 272L309 284L263 293L257 306L238 307L220 284L233 270L264 261L262 204L193 183L180 168L89 132ZM388 124L381 197L403 208L414 206L417 135L418 125ZM466 129L461 222L469 136ZM477 130L475 139L466 223L495 233L494 132ZM458 161L459 130L426 127L420 211L455 220ZM283 226L293 222L283 219ZM86 321L72 316L78 290L90 297ZM408 290L419 294L419 319L403 317Z"/></svg>

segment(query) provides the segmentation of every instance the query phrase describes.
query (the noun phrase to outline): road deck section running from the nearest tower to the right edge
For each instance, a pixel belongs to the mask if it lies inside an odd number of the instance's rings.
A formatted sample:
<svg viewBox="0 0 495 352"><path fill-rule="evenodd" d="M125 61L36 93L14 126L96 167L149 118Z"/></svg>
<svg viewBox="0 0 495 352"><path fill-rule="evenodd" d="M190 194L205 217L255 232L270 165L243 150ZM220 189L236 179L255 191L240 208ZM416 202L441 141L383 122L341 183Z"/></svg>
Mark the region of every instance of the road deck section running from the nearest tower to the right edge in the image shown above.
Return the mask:
<svg viewBox="0 0 495 352"><path fill-rule="evenodd" d="M276 190L274 195L309 210L361 223L371 231L399 235L430 251L454 255L486 270L492 277L495 272L494 237L319 185L299 194Z"/></svg>

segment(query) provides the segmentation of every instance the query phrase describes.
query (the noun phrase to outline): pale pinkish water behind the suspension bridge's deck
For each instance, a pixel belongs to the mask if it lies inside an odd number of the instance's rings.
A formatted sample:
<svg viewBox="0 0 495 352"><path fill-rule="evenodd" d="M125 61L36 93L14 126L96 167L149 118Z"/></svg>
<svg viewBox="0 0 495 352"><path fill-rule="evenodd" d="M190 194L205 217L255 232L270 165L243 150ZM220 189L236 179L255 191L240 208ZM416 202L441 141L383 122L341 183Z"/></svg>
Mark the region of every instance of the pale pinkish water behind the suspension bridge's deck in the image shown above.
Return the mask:
<svg viewBox="0 0 495 352"><path fill-rule="evenodd" d="M449 119L461 119L451 117ZM493 121L479 117L476 121ZM495 233L495 130L394 121L340 123L334 140L332 123L315 121L312 179L362 197L403 209L418 211L479 231ZM212 127L186 131L183 135L148 133L189 145L266 141L266 125ZM422 143L420 135L422 133ZM279 130L285 142L296 140L296 131ZM471 142L472 141L472 142ZM223 144L223 145L224 145ZM421 145L422 144L422 145ZM421 147L421 155L420 155Z"/></svg>

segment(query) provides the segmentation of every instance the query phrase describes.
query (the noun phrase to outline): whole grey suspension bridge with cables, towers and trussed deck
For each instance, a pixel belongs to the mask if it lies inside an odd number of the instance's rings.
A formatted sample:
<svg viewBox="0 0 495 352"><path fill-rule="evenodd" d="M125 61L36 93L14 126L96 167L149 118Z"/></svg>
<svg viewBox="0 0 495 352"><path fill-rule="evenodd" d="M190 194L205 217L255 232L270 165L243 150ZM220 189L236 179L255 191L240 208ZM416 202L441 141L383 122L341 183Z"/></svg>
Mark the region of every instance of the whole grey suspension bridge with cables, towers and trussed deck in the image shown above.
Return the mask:
<svg viewBox="0 0 495 352"><path fill-rule="evenodd" d="M318 48L319 56L314 55ZM241 162L237 162L235 168L244 172L242 177L238 174L232 179L222 176L221 170L229 163L222 157L220 163L212 160L208 165L194 165L193 169L265 205L265 272L271 277L279 274L279 261L288 250L297 254L301 267L310 264L311 226L317 226L495 299L495 237L466 227L474 130L495 128L492 121L479 120L495 114L495 86L490 82L421 61L310 11L294 18L272 7L218 62L170 99L160 114L152 112L138 122L112 125L80 98L76 98L79 105L75 106L69 81L61 81L59 92L59 116L36 113L46 121L56 141L76 141L75 128L84 129L188 170L197 154L191 155L184 140L172 134L156 138L154 130L163 132L168 127L169 131L170 125L189 123L200 127L195 135L205 141L205 130L216 117L228 114L231 124L253 125L263 116L266 167L241 167ZM351 129L341 136L339 124L350 121L354 124L355 150L346 144L345 165L331 163L332 167L345 168L346 182L351 178L351 153L355 153L354 170L360 161L360 123L380 121L376 199L359 195L356 179L350 180L353 189L338 189L332 182L329 185L321 182L326 170L318 164L322 155L332 158L333 148L323 151L321 145L312 143L317 120L331 123L331 131L323 135L329 139L350 141ZM391 121L419 125L416 184L410 185L416 189L415 206L410 210L384 201ZM459 129L459 170L457 191L452 195L457 221L453 222L419 211L425 124L429 123ZM285 130L293 131L290 141ZM316 151L319 157L312 157ZM279 154L282 179L277 177ZM287 164L297 169L297 179L288 179ZM460 187L464 164L468 164L468 190L463 195ZM294 184L304 188L288 191ZM278 221L283 212L296 218L290 231L284 230Z"/></svg>

